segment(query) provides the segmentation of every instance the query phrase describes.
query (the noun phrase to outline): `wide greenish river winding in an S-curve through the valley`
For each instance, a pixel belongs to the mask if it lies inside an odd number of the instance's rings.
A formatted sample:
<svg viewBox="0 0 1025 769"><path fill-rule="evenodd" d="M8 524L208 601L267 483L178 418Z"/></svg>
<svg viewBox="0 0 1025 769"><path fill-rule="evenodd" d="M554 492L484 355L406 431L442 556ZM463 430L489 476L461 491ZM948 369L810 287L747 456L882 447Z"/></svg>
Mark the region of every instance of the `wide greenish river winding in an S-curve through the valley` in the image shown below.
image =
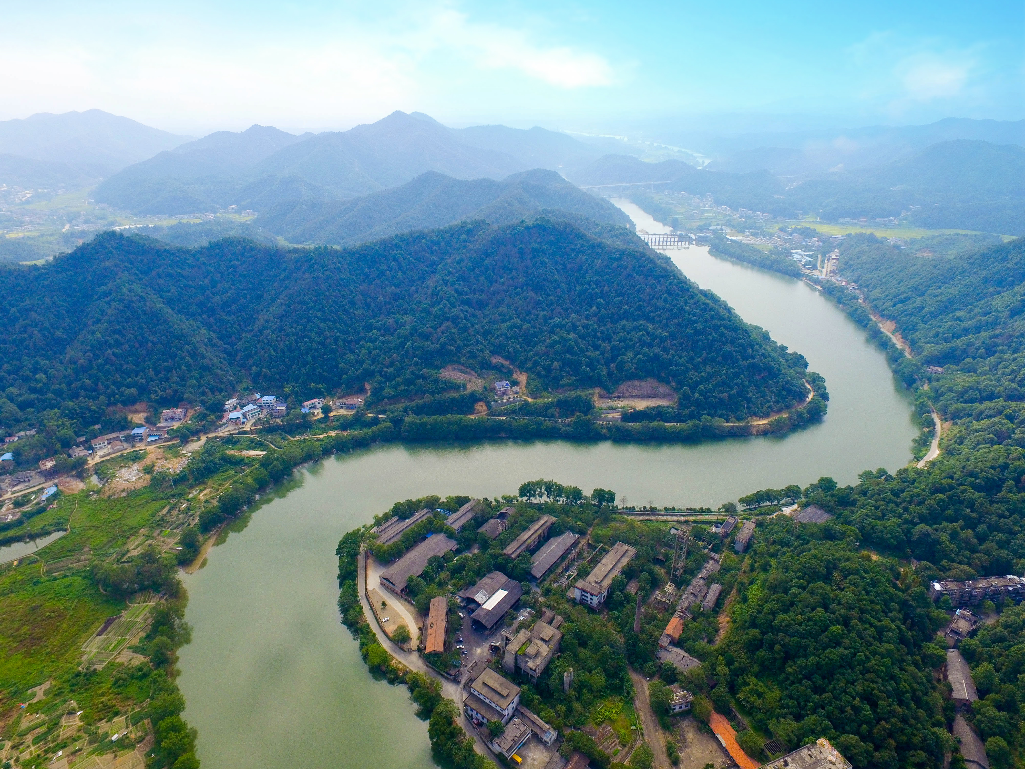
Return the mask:
<svg viewBox="0 0 1025 769"><path fill-rule="evenodd" d="M632 504L717 507L758 488L824 475L853 483L862 470L907 463L910 400L847 316L801 281L705 248L667 253L825 376L825 419L787 436L698 445L387 445L302 470L184 577L194 633L179 683L204 769L434 766L406 690L371 678L335 607L338 539L396 500L495 496L544 477L610 488Z"/></svg>

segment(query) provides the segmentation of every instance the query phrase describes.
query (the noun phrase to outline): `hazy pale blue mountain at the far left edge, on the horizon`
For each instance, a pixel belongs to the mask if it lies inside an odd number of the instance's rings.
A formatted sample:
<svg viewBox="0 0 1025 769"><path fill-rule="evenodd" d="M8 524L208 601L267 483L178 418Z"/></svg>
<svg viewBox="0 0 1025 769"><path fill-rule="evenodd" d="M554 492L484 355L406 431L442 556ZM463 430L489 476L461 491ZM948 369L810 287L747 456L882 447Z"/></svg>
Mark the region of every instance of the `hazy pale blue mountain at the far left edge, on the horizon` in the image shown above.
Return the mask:
<svg viewBox="0 0 1025 769"><path fill-rule="evenodd" d="M102 171L100 175L171 150L189 138L101 110L38 113L0 121L0 153L76 167L96 166Z"/></svg>

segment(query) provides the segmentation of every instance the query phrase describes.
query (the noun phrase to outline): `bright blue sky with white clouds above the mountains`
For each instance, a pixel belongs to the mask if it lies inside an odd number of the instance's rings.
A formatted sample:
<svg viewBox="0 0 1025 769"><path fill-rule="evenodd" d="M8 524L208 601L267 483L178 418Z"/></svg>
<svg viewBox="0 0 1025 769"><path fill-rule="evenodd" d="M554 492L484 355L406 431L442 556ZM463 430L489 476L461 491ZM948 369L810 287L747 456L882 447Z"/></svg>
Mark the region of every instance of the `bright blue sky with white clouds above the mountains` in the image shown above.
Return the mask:
<svg viewBox="0 0 1025 769"><path fill-rule="evenodd" d="M613 133L1025 117L1020 1L2 5L0 119L95 107L201 134L393 110Z"/></svg>

